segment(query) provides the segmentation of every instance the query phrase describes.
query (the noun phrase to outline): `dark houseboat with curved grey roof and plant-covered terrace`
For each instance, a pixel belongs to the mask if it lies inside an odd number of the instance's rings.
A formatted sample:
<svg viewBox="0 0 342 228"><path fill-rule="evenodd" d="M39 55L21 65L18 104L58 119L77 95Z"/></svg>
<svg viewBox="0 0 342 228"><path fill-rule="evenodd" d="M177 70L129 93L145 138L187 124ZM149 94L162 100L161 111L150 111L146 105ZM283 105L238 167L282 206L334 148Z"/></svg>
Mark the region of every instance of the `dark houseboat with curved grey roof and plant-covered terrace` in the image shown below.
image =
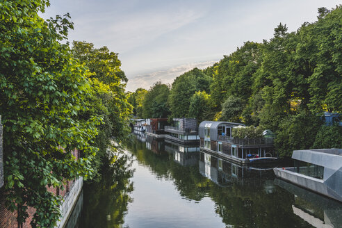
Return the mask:
<svg viewBox="0 0 342 228"><path fill-rule="evenodd" d="M232 129L244 124L203 121L199 124L200 148L236 163L276 161L273 138L234 138ZM254 158L250 158L253 154Z"/></svg>

